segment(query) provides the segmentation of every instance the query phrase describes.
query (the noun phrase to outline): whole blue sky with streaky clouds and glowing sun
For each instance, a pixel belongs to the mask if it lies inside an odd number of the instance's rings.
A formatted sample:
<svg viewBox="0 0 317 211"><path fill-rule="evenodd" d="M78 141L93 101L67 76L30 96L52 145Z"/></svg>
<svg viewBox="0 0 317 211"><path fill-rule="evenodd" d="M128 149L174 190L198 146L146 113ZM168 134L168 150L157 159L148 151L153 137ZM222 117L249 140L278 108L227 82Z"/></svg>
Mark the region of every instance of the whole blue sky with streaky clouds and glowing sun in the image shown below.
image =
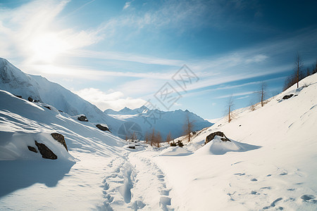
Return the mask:
<svg viewBox="0 0 317 211"><path fill-rule="evenodd" d="M235 108L259 101L261 82L268 97L278 94L297 52L306 67L316 61L316 8L316 1L0 1L0 57L101 110L150 100L213 119L231 95ZM172 77L185 64L198 80L182 89ZM171 106L156 98L166 83L181 96Z"/></svg>

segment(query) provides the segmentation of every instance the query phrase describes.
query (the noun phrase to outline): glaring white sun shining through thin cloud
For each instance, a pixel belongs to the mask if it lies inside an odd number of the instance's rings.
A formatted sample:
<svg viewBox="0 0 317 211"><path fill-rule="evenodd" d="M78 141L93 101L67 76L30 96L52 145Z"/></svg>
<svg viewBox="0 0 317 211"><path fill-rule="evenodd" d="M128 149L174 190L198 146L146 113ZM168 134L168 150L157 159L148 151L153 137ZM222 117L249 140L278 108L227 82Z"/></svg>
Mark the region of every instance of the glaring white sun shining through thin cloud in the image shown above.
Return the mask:
<svg viewBox="0 0 317 211"><path fill-rule="evenodd" d="M39 34L30 41L33 62L52 63L67 48L67 42L58 37L56 33Z"/></svg>

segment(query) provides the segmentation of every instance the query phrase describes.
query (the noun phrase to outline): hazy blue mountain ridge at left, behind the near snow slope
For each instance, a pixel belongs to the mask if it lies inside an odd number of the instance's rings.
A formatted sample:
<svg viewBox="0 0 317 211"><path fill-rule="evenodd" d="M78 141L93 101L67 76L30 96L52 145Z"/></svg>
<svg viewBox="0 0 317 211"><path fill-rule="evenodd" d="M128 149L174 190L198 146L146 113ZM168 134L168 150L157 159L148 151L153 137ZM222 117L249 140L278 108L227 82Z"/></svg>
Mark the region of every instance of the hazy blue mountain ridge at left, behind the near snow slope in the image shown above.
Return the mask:
<svg viewBox="0 0 317 211"><path fill-rule="evenodd" d="M123 123L104 114L99 108L59 84L44 77L27 75L4 58L0 58L0 89L27 99L29 96L48 103L69 115L85 114L89 121L106 123L116 133Z"/></svg>

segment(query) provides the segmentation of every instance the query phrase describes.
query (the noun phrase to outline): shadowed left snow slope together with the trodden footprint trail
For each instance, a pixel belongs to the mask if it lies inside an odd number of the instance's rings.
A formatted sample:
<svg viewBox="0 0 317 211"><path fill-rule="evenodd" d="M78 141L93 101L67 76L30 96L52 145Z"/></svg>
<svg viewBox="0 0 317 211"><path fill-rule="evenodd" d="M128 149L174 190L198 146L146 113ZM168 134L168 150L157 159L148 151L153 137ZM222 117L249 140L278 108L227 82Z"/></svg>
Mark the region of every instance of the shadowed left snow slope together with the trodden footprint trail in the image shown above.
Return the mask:
<svg viewBox="0 0 317 211"><path fill-rule="evenodd" d="M0 91L0 101L0 210L174 209L163 172L133 156L144 151L142 144L130 149L91 122L7 91ZM63 134L69 153L52 132ZM35 140L58 159L29 151Z"/></svg>

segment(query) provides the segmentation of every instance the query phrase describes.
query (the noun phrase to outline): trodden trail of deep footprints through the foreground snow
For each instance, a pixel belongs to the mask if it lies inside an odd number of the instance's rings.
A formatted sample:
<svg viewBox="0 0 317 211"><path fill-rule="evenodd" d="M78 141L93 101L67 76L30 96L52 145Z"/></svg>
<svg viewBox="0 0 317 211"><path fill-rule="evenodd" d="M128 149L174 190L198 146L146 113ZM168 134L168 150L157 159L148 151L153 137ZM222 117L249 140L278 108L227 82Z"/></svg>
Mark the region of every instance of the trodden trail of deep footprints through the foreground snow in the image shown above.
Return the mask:
<svg viewBox="0 0 317 211"><path fill-rule="evenodd" d="M151 160L127 152L108 167L99 210L174 210L165 174Z"/></svg>

